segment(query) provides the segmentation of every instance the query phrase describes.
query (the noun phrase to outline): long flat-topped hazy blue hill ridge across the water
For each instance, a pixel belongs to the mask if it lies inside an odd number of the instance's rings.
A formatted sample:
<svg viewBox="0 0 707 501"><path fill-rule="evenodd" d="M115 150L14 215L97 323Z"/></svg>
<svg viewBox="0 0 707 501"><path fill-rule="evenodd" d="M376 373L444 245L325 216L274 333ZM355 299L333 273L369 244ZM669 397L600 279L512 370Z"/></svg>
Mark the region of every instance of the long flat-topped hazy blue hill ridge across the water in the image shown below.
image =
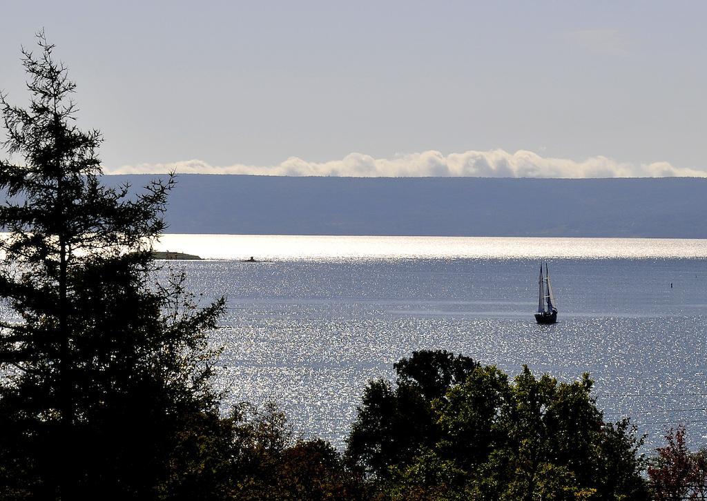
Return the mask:
<svg viewBox="0 0 707 501"><path fill-rule="evenodd" d="M707 179L179 175L166 218L173 233L707 238Z"/></svg>

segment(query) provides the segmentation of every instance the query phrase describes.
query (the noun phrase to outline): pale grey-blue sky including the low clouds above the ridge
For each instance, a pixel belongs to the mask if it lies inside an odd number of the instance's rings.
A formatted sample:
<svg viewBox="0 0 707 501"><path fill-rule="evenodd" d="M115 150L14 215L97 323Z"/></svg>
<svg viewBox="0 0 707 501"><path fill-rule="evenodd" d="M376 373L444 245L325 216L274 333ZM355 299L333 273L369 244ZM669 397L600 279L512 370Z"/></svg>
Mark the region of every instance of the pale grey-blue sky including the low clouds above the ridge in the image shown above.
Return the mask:
<svg viewBox="0 0 707 501"><path fill-rule="evenodd" d="M105 172L707 176L707 2L0 0Z"/></svg>

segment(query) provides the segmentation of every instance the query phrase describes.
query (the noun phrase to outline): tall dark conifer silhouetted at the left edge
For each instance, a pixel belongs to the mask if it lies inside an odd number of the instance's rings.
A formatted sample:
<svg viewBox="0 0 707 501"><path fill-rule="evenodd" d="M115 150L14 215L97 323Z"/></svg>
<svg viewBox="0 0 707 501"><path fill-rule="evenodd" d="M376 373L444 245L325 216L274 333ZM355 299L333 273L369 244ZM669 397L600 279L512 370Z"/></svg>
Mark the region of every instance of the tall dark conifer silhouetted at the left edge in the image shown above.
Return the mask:
<svg viewBox="0 0 707 501"><path fill-rule="evenodd" d="M0 94L0 297L15 312L0 323L0 498L156 497L193 481L177 442L218 428L206 333L223 300L197 308L183 275L153 283L173 179L136 197L100 183L100 132L78 129L75 85L37 41L29 107Z"/></svg>

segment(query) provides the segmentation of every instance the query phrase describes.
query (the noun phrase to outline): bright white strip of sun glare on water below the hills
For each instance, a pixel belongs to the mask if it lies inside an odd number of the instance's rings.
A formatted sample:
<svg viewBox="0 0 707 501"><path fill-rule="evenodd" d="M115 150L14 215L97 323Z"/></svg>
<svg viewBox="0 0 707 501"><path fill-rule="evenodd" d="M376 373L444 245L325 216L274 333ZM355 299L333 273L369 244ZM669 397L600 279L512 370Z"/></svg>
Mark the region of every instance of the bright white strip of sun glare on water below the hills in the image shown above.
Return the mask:
<svg viewBox="0 0 707 501"><path fill-rule="evenodd" d="M707 240L534 237L339 237L309 235L163 235L158 250L205 259L691 258Z"/></svg>

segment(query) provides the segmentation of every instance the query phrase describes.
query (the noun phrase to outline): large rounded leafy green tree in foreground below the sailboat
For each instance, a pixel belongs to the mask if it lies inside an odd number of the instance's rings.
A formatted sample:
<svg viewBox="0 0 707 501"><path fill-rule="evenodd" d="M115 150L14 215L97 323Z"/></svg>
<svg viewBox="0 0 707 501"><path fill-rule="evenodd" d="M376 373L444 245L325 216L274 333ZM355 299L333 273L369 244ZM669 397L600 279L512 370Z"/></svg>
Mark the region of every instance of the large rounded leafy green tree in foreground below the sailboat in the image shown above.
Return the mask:
<svg viewBox="0 0 707 501"><path fill-rule="evenodd" d="M440 376L460 364L458 377ZM561 383L524 367L510 380L445 352L414 353L396 368L408 372L395 389L366 387L347 450L382 497L648 498L642 440L627 420L604 423L588 375ZM436 390L423 391L431 381Z"/></svg>

